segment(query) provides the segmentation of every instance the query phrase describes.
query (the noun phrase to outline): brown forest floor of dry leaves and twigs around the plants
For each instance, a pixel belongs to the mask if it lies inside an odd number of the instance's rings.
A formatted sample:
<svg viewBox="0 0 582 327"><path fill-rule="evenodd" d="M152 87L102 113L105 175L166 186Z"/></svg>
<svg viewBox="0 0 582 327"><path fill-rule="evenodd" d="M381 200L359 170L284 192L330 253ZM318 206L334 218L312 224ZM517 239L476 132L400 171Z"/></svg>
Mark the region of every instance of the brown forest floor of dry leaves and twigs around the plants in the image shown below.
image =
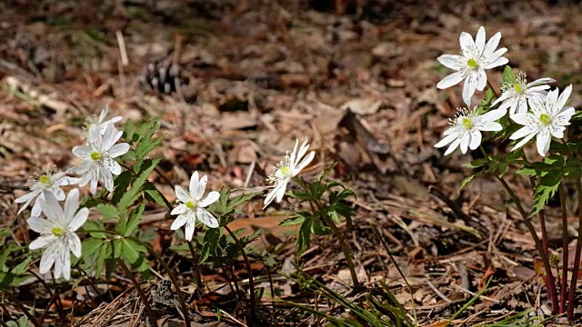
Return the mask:
<svg viewBox="0 0 582 327"><path fill-rule="evenodd" d="M0 227L13 231L15 242L27 244L35 237L26 215L16 214L15 197L25 193L28 179L39 170L74 165L71 148L82 142L85 118L108 106L124 122L161 117L165 141L154 155L164 158L160 173L165 175L152 181L170 200L173 186L164 181L184 185L196 170L209 175L213 190L266 186L261 172L270 171L296 138L308 138L317 155L306 174L336 162L331 177L356 192L356 200L349 200L354 222L346 233L359 280L369 287L386 283L409 314L416 310L419 325L446 325L481 291L487 297L473 302L452 325L493 324L518 312L543 316L550 311L535 244L507 194L487 177L458 193L470 173L463 163L471 154L446 157L434 147L463 105L460 86L437 90L449 73L437 57L459 52L462 31L475 35L481 25L487 37L500 31L500 46L508 48L512 67L527 72L530 80L552 77L560 88L574 84L570 104L578 107L579 5L540 0L82 3L0 3ZM144 83L164 79L154 76L152 67L167 70L173 64L179 72L165 79L167 90ZM488 72L496 87L501 72L502 67ZM476 97L483 96L477 92ZM529 207L531 192L523 177L509 175L508 181ZM266 212L261 207L258 200L247 205L234 229L264 228L271 237L256 243L261 249L284 244L272 269L279 298L317 302L316 295L300 292L279 274L295 262L294 231L278 226L288 216L286 204ZM572 203L570 209L576 207ZM187 261L168 249L173 242L169 215L152 209L146 217L141 227L154 231L155 248L189 276ZM561 247L559 221L559 214L549 210L554 253ZM408 285L374 226L386 237ZM570 227L574 237L574 217ZM349 272L335 238L314 238L300 263L317 281L346 292ZM244 265L236 268L244 277ZM262 264L255 268L255 278L265 277ZM227 281L212 266L205 266L203 275L212 290ZM131 287L121 271L98 284L114 295ZM67 314L73 322L91 325L105 304L73 286L61 287ZM38 289L37 283L27 284L17 294L43 312L51 299ZM271 305L268 297L264 302ZM333 303L320 305L342 314ZM111 314L129 315L122 309ZM58 315L47 310L45 321L57 321ZM244 321L240 311L226 312L232 316L223 317L226 323ZM287 312L295 313L278 312L276 324L323 323L307 312ZM212 309L203 316L203 322L217 320Z"/></svg>

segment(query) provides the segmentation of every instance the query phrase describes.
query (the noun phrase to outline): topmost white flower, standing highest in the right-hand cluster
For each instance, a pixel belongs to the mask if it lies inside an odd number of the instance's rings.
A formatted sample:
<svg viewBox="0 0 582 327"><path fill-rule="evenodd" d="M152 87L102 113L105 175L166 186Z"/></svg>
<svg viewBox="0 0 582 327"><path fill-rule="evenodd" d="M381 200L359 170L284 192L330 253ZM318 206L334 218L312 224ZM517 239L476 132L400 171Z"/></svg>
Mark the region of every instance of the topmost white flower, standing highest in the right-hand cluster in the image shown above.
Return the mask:
<svg viewBox="0 0 582 327"><path fill-rule="evenodd" d="M479 27L475 41L467 32L462 32L459 37L461 55L443 54L437 58L441 64L457 71L443 78L438 82L437 87L446 89L465 80L463 101L470 106L471 97L475 94L475 90L483 91L487 84L485 70L508 62L507 58L501 56L507 52L507 48L501 48L496 51L500 39L501 33L497 32L487 41L486 45L485 28L483 26Z"/></svg>

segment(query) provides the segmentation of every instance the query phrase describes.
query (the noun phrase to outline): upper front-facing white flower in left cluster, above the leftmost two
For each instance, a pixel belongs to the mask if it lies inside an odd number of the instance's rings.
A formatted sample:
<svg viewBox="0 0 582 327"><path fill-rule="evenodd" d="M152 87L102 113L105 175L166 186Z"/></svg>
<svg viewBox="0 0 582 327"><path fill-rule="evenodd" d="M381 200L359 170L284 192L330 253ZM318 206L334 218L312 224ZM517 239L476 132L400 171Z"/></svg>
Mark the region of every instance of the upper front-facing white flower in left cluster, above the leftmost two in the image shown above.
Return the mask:
<svg viewBox="0 0 582 327"><path fill-rule="evenodd" d="M115 144L123 132L115 130L113 124L107 124L105 134L99 132L94 125L89 130L86 145L77 145L73 148L73 154L83 159L83 163L70 169L69 173L81 175L80 186L91 182L91 193L97 192L97 182L104 184L109 192L113 192L113 176L121 173L121 166L114 158L126 154L129 144Z"/></svg>

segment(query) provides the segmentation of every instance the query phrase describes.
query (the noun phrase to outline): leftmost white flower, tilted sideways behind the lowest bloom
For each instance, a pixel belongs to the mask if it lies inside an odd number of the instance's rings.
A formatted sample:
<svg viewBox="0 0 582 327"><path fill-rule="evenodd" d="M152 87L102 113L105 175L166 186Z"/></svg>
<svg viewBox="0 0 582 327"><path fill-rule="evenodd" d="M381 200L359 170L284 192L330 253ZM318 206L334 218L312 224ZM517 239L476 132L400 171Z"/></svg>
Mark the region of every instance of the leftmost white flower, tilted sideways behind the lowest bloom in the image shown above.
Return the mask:
<svg viewBox="0 0 582 327"><path fill-rule="evenodd" d="M63 172L50 173L49 171L46 171L44 174L38 176L38 179L36 179L35 183L30 187L29 193L26 193L15 200L15 203L25 203L16 214L22 213L23 210L25 210L26 207L36 199L31 213L33 216L39 216L41 209L38 200L45 197L43 191L53 193L55 194L56 200L63 201L65 200L65 192L63 192L61 186L72 185L75 183L78 183L78 178L65 176L65 173Z"/></svg>

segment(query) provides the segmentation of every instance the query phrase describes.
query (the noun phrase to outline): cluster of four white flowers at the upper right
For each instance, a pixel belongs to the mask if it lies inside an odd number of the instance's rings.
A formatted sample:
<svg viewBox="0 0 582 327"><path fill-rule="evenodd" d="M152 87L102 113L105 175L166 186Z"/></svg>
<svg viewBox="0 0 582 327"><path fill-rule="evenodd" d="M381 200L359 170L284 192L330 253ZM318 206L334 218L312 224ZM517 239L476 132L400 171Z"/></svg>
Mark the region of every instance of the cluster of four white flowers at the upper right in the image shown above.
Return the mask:
<svg viewBox="0 0 582 327"><path fill-rule="evenodd" d="M468 107L476 90L483 91L487 85L486 69L507 64L508 60L501 55L507 52L506 48L496 50L501 39L501 33L493 35L485 42L485 28L481 26L477 37L466 32L461 33L459 42L461 54L443 54L437 60L457 72L447 75L438 84L437 88L445 89L465 80L463 86L463 101ZM509 110L509 117L517 124L523 125L510 139L522 139L513 149L516 150L527 144L537 136L537 153L545 156L549 151L552 136L564 137L564 131L570 118L575 113L573 107L567 107L567 100L572 92L572 85L567 86L562 94L557 89L549 90L548 83L556 82L551 78L540 78L527 83L526 74L520 73L515 81L502 84L502 94L491 104L498 107L487 113L477 113L466 108L457 109L457 118L451 120L451 127L445 131L445 138L435 144L443 147L450 144L445 155L451 154L458 146L463 154L467 148L477 149L481 144L481 132L501 131L501 124L496 123ZM559 96L558 96L559 95Z"/></svg>

